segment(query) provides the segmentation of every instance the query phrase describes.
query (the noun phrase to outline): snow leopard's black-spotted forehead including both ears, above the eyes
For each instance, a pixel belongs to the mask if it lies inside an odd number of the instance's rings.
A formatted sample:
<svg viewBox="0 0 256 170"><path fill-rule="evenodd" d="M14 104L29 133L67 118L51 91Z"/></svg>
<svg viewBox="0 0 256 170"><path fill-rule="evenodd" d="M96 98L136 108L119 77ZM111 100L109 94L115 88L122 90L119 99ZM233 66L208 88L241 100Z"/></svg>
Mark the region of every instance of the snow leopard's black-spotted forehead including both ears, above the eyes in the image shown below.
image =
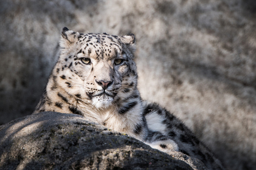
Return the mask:
<svg viewBox="0 0 256 170"><path fill-rule="evenodd" d="M84 55L98 61L112 60L117 56L127 59L133 58L135 36L133 34L125 36L108 35L107 33L84 34L68 30L65 27L62 30L60 46L64 50L72 49L76 55Z"/></svg>

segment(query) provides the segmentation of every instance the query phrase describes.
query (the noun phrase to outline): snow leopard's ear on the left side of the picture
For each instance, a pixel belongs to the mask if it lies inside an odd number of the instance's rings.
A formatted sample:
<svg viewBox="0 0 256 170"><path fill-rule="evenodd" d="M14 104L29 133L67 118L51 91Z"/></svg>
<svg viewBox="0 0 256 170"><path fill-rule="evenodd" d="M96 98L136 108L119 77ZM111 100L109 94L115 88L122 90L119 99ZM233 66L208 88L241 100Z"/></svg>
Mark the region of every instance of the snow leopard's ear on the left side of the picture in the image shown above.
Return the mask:
<svg viewBox="0 0 256 170"><path fill-rule="evenodd" d="M73 30L69 30L67 27L64 27L60 36L60 47L64 49L68 48L78 40L79 36L79 32L74 32Z"/></svg>

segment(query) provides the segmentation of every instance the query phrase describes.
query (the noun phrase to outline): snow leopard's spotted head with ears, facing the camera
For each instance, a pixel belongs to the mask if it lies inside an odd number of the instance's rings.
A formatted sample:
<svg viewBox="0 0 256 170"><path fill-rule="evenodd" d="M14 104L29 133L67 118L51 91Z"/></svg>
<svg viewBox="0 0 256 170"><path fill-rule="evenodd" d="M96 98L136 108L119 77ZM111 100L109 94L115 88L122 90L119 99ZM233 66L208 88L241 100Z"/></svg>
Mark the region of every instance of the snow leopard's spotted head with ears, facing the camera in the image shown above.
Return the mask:
<svg viewBox="0 0 256 170"><path fill-rule="evenodd" d="M84 35L65 27L53 80L81 102L97 108L108 107L120 98L129 97L137 85L134 42L134 35Z"/></svg>

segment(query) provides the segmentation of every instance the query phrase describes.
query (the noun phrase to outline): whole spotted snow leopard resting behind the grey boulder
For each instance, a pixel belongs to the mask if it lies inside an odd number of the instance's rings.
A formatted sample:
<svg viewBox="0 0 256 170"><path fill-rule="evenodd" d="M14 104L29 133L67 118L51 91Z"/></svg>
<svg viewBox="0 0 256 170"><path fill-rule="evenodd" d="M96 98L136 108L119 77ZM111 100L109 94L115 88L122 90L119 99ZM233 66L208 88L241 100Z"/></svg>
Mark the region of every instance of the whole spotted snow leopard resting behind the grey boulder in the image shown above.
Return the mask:
<svg viewBox="0 0 256 170"><path fill-rule="evenodd" d="M167 154L179 151L208 169L224 169L181 120L140 97L135 35L84 34L64 27L59 44L59 60L34 114L82 115Z"/></svg>

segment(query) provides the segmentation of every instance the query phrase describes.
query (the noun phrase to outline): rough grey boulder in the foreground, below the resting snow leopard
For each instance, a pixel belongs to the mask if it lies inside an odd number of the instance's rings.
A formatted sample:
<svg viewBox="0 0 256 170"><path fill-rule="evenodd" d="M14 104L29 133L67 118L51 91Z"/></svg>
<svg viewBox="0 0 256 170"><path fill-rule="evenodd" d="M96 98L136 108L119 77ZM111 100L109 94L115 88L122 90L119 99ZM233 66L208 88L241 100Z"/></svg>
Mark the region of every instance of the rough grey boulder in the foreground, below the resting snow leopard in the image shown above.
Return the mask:
<svg viewBox="0 0 256 170"><path fill-rule="evenodd" d="M42 112L0 126L0 169L205 169L74 114ZM174 157L174 158L173 158Z"/></svg>

